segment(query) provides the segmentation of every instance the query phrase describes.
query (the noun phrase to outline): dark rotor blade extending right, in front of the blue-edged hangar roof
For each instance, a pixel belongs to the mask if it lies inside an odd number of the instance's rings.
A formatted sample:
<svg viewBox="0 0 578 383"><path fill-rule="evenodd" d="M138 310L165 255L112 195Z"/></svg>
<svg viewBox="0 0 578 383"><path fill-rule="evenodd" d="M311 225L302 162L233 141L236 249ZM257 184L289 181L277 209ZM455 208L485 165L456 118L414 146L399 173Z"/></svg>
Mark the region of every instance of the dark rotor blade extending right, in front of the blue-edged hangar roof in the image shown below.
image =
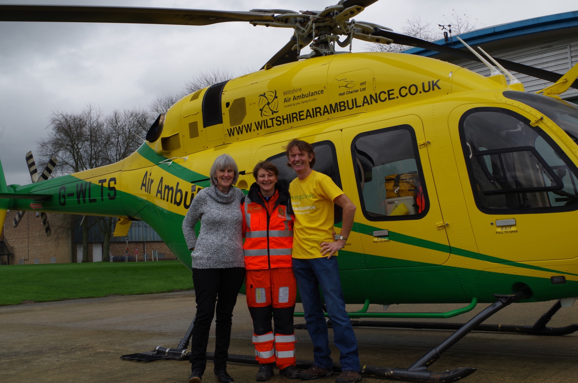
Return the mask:
<svg viewBox="0 0 578 383"><path fill-rule="evenodd" d="M423 49L433 50L433 51L436 51L439 53L449 54L451 56L467 58L468 60L472 60L472 61L480 61L480 59L477 58L476 55L470 51L452 48L452 47L445 46L445 45L438 45L436 43L422 40L422 39L418 39L417 37L413 37L413 36L407 36L407 35L398 34L395 32L384 31L384 30L380 30L379 28L375 28L375 30L373 30L372 35L373 36L382 36L385 38L392 39L392 40L394 40L394 43L396 43L396 44L420 47ZM546 71L545 69L530 67L529 65L524 65L524 64L518 64L518 62L503 60L502 58L494 57L494 59L496 61L498 61L501 65L503 65L503 67L506 69L510 69L510 70L516 71L518 73L523 73L524 75L532 76L532 77L535 77L538 79L542 79L542 80L546 80L546 81L550 81L550 82L555 83L562 77L562 75L560 73ZM576 80L572 84L572 87L578 89L578 80Z"/></svg>

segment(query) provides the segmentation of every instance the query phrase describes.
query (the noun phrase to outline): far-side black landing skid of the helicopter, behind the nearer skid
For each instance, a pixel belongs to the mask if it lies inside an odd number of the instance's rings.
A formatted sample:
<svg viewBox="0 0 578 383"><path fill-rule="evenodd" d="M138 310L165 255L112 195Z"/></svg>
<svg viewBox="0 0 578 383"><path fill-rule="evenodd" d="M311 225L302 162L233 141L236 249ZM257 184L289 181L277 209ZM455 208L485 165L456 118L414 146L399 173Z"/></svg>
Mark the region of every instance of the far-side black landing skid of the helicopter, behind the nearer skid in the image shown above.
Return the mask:
<svg viewBox="0 0 578 383"><path fill-rule="evenodd" d="M472 331L496 332L496 333L518 333L529 335L551 335L563 336L578 331L578 323L564 327L547 327L546 324L560 310L561 302L558 300L544 313L533 326L516 325L479 325ZM327 322L327 327L331 326L331 321ZM427 330L458 330L464 323L446 322L399 322L399 321L351 321L353 327L395 327L398 329L427 329ZM295 329L306 329L305 325L295 325Z"/></svg>

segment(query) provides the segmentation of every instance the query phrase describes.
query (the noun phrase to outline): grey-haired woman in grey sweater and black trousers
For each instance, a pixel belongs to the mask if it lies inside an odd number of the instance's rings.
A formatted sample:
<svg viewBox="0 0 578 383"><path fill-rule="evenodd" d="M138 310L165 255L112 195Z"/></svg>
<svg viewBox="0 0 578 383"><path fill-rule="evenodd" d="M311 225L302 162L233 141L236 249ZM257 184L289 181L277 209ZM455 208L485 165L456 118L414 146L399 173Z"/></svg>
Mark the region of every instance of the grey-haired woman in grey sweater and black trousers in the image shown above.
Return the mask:
<svg viewBox="0 0 578 383"><path fill-rule="evenodd" d="M229 154L221 154L210 170L210 187L200 190L183 220L183 234L192 250L192 280L197 315L192 329L191 376L189 383L201 383L207 360L209 330L216 312L214 374L221 383L231 383L227 373L233 308L243 285L243 259L240 189L232 186L239 169ZM195 224L201 220L199 237ZM217 305L215 309L215 304Z"/></svg>

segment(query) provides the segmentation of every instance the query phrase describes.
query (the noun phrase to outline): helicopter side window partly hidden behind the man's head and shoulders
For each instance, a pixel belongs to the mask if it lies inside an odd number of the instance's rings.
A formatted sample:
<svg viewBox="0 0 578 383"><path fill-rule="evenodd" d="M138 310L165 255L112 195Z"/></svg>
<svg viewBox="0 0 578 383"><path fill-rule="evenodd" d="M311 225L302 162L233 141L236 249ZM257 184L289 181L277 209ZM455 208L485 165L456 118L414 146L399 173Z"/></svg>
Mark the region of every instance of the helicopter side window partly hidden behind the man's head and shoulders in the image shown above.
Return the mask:
<svg viewBox="0 0 578 383"><path fill-rule="evenodd" d="M341 186L341 177L339 176L339 167L337 164L337 153L335 152L335 145L331 141L320 141L311 144L315 152L315 165L313 170L320 173L328 175L331 177L335 185ZM275 156L269 157L266 161L270 161L277 169L279 169L279 179L284 179L288 183L291 183L295 178L297 178L297 173L293 168L288 167L287 155L285 152L275 154ZM343 209L335 204L335 223L342 221Z"/></svg>

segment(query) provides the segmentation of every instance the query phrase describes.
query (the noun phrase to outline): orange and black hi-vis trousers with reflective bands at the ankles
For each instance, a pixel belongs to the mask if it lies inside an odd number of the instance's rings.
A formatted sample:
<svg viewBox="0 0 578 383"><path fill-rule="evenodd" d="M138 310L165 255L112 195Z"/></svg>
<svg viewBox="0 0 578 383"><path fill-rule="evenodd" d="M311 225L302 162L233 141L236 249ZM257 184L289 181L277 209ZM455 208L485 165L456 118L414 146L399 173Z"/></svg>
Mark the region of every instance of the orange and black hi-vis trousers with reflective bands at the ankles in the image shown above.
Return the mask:
<svg viewBox="0 0 578 383"><path fill-rule="evenodd" d="M247 305L253 318L255 359L276 363L279 369L295 365L293 312L297 283L291 267L247 270ZM273 333L272 320L275 323Z"/></svg>

